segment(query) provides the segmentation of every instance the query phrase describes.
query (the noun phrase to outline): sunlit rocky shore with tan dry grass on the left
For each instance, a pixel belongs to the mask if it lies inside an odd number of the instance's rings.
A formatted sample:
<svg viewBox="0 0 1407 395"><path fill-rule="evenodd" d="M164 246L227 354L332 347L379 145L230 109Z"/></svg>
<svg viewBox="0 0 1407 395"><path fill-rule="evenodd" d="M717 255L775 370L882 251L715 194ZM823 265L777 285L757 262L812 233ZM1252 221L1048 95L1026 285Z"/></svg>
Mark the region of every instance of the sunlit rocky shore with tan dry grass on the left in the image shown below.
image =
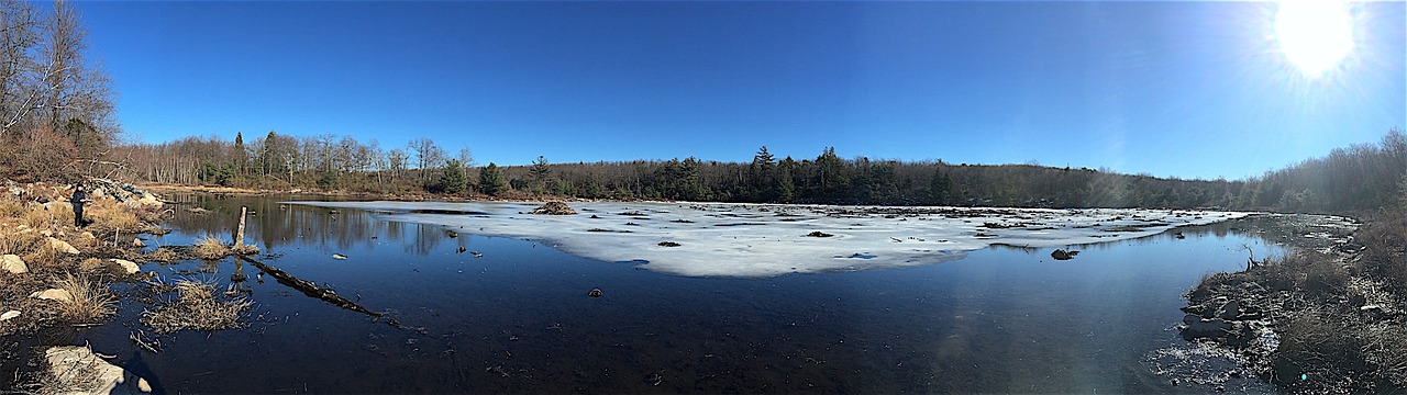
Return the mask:
<svg viewBox="0 0 1407 395"><path fill-rule="evenodd" d="M142 284L144 233L158 226L163 202L127 183L91 179L83 226L75 226L69 201L75 184L3 181L0 186L0 336L38 336L61 328L101 325L115 313L115 283ZM165 257L174 259L174 257ZM135 394L151 384L108 363L97 346L11 349L38 371L7 371L7 391L32 394Z"/></svg>

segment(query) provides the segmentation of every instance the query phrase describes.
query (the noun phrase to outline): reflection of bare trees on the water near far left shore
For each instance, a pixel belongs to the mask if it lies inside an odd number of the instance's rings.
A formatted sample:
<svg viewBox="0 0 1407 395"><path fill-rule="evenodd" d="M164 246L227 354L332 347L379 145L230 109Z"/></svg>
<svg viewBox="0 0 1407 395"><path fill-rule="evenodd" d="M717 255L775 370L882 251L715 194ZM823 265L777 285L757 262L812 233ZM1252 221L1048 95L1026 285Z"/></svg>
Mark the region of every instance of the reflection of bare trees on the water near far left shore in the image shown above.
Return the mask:
<svg viewBox="0 0 1407 395"><path fill-rule="evenodd" d="M193 235L214 235L228 239L239 224L239 207L252 212L245 226L245 239L257 240L265 250L274 250L290 243L321 245L331 249L371 249L380 238L400 243L405 252L428 254L445 239L440 226L391 222L374 218L360 209L328 209L308 205L280 205L279 201L326 200L308 195L235 197L217 194L182 194L167 197L180 205L172 207L173 215L166 219ZM189 208L210 209L208 214L191 212ZM228 240L227 240L228 242Z"/></svg>

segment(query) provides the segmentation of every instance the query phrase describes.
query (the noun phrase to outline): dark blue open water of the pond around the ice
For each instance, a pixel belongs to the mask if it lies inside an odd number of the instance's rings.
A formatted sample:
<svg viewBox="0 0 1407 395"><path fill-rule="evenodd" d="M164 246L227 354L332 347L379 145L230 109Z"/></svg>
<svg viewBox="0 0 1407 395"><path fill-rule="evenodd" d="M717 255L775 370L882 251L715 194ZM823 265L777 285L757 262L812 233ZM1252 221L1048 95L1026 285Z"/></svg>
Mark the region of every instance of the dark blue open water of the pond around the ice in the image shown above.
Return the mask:
<svg viewBox="0 0 1407 395"><path fill-rule="evenodd" d="M225 259L144 270L221 288L248 274L246 329L179 332L158 337L160 353L139 351L128 336L142 306L125 302L114 323L42 342L90 342L169 394L1207 392L1171 385L1147 356L1185 344L1173 325L1202 276L1241 267L1242 245L1279 250L1206 226L1082 246L1067 261L995 247L902 270L689 278L276 204L290 198L196 197L214 212L177 208L176 232L148 245L228 236L248 205L259 260L402 328L257 283L257 268Z"/></svg>

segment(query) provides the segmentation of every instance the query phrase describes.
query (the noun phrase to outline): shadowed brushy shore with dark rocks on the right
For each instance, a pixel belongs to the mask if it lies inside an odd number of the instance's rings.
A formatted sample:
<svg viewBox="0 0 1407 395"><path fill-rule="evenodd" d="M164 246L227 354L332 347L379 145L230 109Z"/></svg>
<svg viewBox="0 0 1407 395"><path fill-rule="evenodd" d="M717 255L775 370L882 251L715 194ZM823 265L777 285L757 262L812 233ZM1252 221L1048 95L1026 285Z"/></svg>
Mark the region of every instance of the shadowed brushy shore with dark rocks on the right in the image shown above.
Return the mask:
<svg viewBox="0 0 1407 395"><path fill-rule="evenodd" d="M1248 256L1245 270L1204 278L1188 292L1182 336L1240 353L1248 371L1292 394L1407 388L1401 283L1373 266L1403 264L1403 229L1392 229L1399 222L1328 215L1233 221L1294 252L1279 260Z"/></svg>

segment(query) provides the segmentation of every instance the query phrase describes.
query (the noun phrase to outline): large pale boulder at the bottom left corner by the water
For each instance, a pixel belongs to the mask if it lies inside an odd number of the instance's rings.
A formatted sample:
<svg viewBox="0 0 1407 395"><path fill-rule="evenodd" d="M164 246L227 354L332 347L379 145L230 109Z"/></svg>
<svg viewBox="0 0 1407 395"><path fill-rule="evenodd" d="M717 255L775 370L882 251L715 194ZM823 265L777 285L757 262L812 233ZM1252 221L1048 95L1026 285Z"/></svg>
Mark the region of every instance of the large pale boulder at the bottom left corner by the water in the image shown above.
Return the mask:
<svg viewBox="0 0 1407 395"><path fill-rule="evenodd" d="M49 347L44 357L58 381L49 389L58 389L59 394L139 394L138 388L132 388L141 387L139 377L104 361L89 347Z"/></svg>

